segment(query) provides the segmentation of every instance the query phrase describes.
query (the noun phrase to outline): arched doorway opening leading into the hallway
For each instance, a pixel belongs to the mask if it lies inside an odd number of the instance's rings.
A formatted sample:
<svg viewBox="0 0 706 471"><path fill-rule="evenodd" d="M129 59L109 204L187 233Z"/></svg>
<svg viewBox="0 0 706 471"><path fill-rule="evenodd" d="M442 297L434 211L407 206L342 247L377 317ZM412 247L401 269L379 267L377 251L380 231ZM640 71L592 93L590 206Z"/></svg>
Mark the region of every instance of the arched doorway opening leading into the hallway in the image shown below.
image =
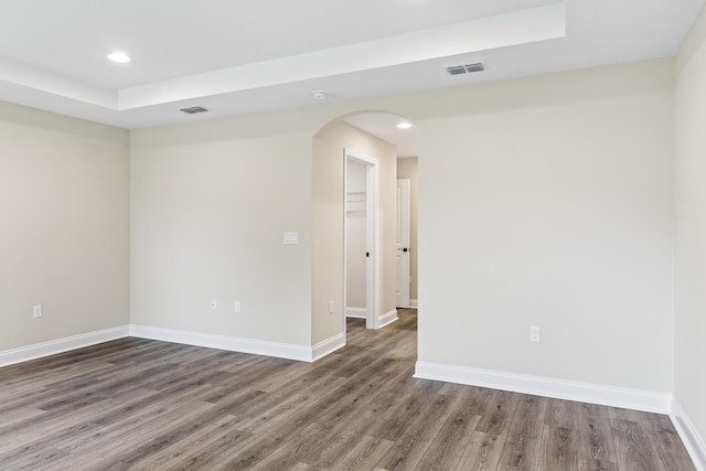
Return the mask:
<svg viewBox="0 0 706 471"><path fill-rule="evenodd" d="M312 342L342 346L346 315L368 329L397 319L398 254L410 255L398 244L397 159L416 157L416 127L386 111L349 114L314 135L312 151ZM364 242L352 240L354 226Z"/></svg>

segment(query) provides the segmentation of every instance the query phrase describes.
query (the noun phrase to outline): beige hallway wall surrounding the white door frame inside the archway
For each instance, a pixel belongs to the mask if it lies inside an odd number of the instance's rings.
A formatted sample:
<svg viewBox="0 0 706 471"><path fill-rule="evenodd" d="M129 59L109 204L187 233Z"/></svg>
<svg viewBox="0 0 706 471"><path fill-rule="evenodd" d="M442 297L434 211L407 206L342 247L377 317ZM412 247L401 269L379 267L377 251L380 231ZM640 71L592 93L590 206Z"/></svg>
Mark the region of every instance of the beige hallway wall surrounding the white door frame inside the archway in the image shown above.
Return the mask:
<svg viewBox="0 0 706 471"><path fill-rule="evenodd" d="M379 161L378 314L395 309L396 150L345 122L325 126L313 140L313 344L343 331L343 150ZM335 312L329 314L328 303Z"/></svg>

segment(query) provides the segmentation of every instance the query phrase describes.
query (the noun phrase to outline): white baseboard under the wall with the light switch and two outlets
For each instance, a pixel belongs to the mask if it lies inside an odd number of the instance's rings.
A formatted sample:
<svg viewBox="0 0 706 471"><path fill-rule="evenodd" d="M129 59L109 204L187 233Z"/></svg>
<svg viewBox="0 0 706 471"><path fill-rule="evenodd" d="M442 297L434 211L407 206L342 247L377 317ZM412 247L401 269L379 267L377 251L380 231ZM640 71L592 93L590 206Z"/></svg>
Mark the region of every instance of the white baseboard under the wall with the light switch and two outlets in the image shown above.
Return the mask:
<svg viewBox="0 0 706 471"><path fill-rule="evenodd" d="M240 339L237 336L216 335L137 324L130 324L130 335L140 339L162 340L165 342L184 343L186 345L205 346L208 349L298 360L300 362L311 362L313 358L311 346Z"/></svg>

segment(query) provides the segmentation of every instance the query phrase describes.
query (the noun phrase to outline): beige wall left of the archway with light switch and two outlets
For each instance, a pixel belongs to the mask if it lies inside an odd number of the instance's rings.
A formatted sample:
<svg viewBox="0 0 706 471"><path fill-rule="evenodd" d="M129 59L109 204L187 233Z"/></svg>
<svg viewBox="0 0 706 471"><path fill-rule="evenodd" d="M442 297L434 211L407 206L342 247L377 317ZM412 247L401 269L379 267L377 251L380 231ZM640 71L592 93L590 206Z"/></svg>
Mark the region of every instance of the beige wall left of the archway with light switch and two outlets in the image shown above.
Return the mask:
<svg viewBox="0 0 706 471"><path fill-rule="evenodd" d="M311 133L221 125L131 135L131 322L308 346Z"/></svg>

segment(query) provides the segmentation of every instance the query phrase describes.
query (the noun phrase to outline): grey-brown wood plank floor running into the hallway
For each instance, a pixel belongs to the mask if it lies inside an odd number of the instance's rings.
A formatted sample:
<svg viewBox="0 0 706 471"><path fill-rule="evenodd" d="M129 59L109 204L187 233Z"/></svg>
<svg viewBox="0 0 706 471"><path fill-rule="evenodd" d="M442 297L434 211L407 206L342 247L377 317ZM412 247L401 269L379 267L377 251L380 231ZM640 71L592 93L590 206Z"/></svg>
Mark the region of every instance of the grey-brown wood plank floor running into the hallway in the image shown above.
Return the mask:
<svg viewBox="0 0 706 471"><path fill-rule="evenodd" d="M0 470L694 470L666 416L414 379L415 311L314 363L124 339L0 368Z"/></svg>

